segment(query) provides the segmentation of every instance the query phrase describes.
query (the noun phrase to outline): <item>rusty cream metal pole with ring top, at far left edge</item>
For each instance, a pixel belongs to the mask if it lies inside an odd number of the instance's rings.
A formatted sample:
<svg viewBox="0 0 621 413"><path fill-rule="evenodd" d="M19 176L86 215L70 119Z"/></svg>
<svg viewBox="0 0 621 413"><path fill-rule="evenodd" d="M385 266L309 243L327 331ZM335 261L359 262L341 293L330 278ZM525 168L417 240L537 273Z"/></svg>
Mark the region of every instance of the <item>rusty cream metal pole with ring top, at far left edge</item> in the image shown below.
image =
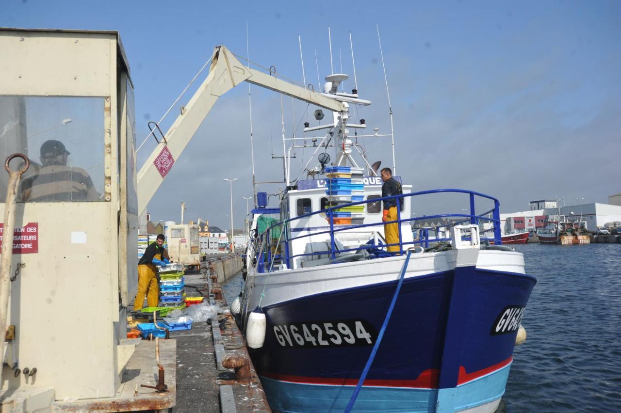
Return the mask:
<svg viewBox="0 0 621 413"><path fill-rule="evenodd" d="M11 171L9 162L14 158L22 158L24 166L19 171ZM13 232L15 228L15 202L19 181L26 172L30 162L24 154L16 153L6 158L4 169L9 172L9 182L6 190L6 203L4 205L4 242L2 242L2 256L0 257L0 334L4 343L6 339L6 324L9 313L9 295L11 293L11 259L13 257ZM2 370L0 369L0 381Z"/></svg>

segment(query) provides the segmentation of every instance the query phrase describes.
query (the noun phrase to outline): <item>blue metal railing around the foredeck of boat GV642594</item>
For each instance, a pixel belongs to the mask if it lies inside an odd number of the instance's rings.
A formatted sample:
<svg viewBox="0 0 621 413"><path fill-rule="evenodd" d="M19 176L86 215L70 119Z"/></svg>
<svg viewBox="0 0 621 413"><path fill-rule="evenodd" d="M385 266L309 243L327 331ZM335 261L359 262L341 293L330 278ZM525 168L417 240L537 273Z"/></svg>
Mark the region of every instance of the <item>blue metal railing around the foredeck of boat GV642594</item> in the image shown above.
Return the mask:
<svg viewBox="0 0 621 413"><path fill-rule="evenodd" d="M429 195L432 193L466 193L469 195L469 210L470 213L451 213L451 214L438 214L438 215L425 215L425 216L414 216L412 218L401 218L401 207L404 198L407 197L419 197L421 195ZM494 202L494 208L491 210L476 214L476 205L475 205L475 197L486 198L487 200L492 200ZM384 200L394 200L397 205L397 220L394 221L386 221L386 222L373 222L373 223L365 223L365 224L335 224L334 219L338 218L333 215L334 210L338 208L351 207L355 205L365 205L368 203L374 202L383 202ZM448 241L450 238L439 238L438 234L443 231L443 228L449 229L451 226L463 223L469 224L480 224L483 222L491 222L493 224L491 229L487 229L484 232L491 232L494 234L493 238L489 236L487 239L489 241L495 242L497 245L502 244L501 238L501 227L500 227L500 211L499 211L500 203L499 201L491 197L489 195L485 195L484 193L469 191L465 189L433 189L412 193L403 193L401 195L392 195L390 197L384 198L374 198L371 200L363 200L358 202L351 202L346 205L338 205L335 207L330 207L325 210L315 211L311 213L307 213L304 215L296 216L295 218L289 218L288 220L281 221L276 223L265 230L264 233L258 235L258 239L255 242L255 245L258 246L260 251L256 251L257 262L259 272L265 272L266 270L271 270L273 267L273 263L280 261L286 263L288 268L291 268L291 260L297 257L308 256L308 255L330 255L332 259L335 259L337 254L342 252L351 252L351 251L359 251L360 249L370 248L371 246L362 246L350 249L338 249L335 245L335 233L339 233L341 231L350 231L351 229L360 229L360 228L369 228L373 226L386 225L386 224L397 224L398 234L399 234L399 242L392 244L383 244L382 247L389 246L399 246L399 254L404 254L404 251L407 250L407 246L410 245L420 245L422 247L427 248L430 242L439 242L439 241ZM314 231L309 234L304 234L301 236L291 236L291 223L297 220L301 220L303 218L308 218L309 216L325 214L325 218L328 219L330 224L330 229L325 231ZM491 218L489 215L491 214ZM323 217L322 217L323 218ZM404 222L412 222L412 221L422 221L422 220L435 220L438 218L463 218L463 220L454 221L451 223L442 224L439 226L435 226L433 228L422 228L420 231L419 239L414 239L414 241L403 241L402 237L402 228L401 224ZM335 228L335 225L338 225ZM270 234L273 232L274 228L280 228L281 235L278 239L272 238ZM428 230L434 229L436 233L435 239L429 239ZM296 231L311 231L311 229L304 228L296 228ZM308 238L310 236L317 236L320 234L329 234L330 235L330 250L329 251L318 251L318 252L308 252L304 254L296 254L291 255L291 241L295 241L296 239ZM404 248L404 246L406 246ZM396 254L396 253L395 253Z"/></svg>

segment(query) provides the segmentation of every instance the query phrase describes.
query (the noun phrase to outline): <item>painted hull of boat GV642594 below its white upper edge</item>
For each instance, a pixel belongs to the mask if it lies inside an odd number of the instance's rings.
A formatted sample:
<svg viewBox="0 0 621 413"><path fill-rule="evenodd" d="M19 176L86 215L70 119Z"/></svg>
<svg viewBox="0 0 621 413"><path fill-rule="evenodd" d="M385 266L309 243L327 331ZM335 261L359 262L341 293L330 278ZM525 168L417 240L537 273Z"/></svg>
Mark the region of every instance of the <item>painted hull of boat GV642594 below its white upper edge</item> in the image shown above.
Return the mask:
<svg viewBox="0 0 621 413"><path fill-rule="evenodd" d="M504 394L536 280L462 267L406 278L354 411L459 411ZM343 411L388 311L395 282L266 306L250 355L274 411Z"/></svg>

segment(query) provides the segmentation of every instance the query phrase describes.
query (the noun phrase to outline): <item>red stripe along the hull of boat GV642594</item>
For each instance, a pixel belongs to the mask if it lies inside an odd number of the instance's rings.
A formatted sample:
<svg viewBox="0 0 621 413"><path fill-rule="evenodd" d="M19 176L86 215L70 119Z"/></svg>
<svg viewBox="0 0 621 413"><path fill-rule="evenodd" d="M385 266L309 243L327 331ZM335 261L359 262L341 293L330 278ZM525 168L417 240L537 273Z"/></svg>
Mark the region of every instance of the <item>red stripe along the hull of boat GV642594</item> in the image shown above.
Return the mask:
<svg viewBox="0 0 621 413"><path fill-rule="evenodd" d="M473 373L466 373L466 368L460 366L460 373L458 376L457 384L468 383L479 377L493 373L496 370L509 365L512 357L507 358L500 363L493 366L484 368L483 370L474 371ZM291 383L300 384L324 384L327 386L355 386L358 384L356 378L326 378L326 377L307 377L307 376L292 376L281 375L278 373L263 373L263 376L279 381L289 381ZM372 387L397 387L397 388L417 388L417 389L437 389L438 388L438 370L430 368L420 373L416 380L365 380L365 386Z"/></svg>

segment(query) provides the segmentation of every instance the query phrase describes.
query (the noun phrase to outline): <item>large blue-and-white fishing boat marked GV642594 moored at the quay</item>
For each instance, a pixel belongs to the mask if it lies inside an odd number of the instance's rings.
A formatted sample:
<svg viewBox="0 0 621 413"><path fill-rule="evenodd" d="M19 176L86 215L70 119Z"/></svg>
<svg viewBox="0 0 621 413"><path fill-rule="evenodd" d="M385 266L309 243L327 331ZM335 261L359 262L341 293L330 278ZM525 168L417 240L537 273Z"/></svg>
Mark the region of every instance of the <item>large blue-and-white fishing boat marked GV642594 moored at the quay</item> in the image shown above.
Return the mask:
<svg viewBox="0 0 621 413"><path fill-rule="evenodd" d="M337 92L347 76L325 79L330 99L370 104ZM325 179L287 182L277 206L260 192L253 210L247 277L233 313L270 406L495 411L536 283L523 255L502 246L498 200L464 189L412 192L406 177L396 177L401 195L383 198L376 168L363 153L352 156L348 113L332 120L319 147L334 148L335 161L317 158ZM410 205L445 193L463 197L454 214L461 222L447 225L450 242L427 249L412 236L412 221L451 214L412 216ZM381 213L389 199L399 205L388 223L398 228L392 244ZM492 223L496 245L481 245L483 222Z"/></svg>

